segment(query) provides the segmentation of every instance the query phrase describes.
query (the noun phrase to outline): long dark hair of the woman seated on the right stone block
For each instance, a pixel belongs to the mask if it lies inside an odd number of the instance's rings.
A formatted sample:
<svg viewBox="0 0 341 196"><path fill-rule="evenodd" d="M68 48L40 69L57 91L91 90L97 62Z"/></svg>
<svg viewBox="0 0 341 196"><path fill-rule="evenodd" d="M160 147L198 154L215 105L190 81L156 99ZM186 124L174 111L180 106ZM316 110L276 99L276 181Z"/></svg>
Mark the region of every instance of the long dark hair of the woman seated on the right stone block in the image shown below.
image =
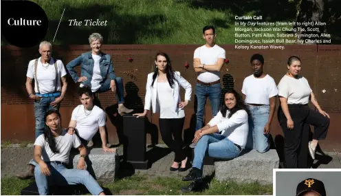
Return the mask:
<svg viewBox="0 0 341 196"><path fill-rule="evenodd" d="M228 107L225 105L225 95L226 94L234 94L234 97L236 98L236 106L234 106L232 109L228 109ZM228 114L228 118L231 118L231 116L236 113L236 111L239 111L240 109L244 109L246 113L248 113L248 116L250 116L250 110L245 105L245 102L241 98L241 95L235 91L234 89L228 89L225 91L225 94L223 96L223 102L220 107L220 112L223 116L226 116L226 112L230 110L230 113Z"/></svg>

